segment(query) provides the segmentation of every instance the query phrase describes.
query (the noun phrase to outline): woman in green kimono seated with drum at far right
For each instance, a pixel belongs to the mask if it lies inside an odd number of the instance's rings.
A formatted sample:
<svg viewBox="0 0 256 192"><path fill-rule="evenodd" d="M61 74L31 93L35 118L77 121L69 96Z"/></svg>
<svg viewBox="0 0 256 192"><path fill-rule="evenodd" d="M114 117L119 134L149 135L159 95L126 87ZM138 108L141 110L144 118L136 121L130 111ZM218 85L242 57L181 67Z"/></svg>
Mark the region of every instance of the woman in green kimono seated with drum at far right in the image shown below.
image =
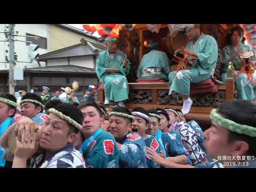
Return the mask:
<svg viewBox="0 0 256 192"><path fill-rule="evenodd" d="M252 47L249 45L244 45L242 43L244 35L244 30L241 27L234 27L231 29L230 34L227 37L228 45L222 49L222 82L227 81L227 69L229 62L234 63L234 68L239 71L242 67L242 62L238 55L243 51L253 51ZM253 56L254 64L256 62L256 56ZM254 92L254 86L256 85L255 78L254 81L250 82L245 74L235 75L237 98L238 99L253 99L256 97L256 92Z"/></svg>

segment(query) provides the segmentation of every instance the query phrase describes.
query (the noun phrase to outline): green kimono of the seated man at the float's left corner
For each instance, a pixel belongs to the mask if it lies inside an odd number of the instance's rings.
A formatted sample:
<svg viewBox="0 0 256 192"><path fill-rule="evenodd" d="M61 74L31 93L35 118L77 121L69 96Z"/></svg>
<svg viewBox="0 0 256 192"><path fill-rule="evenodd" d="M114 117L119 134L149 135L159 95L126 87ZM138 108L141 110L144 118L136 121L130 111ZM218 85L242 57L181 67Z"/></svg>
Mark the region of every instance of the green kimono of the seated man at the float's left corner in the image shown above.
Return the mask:
<svg viewBox="0 0 256 192"><path fill-rule="evenodd" d="M104 84L105 97L114 102L128 99L129 87L126 74L130 71L130 62L123 66L125 54L122 51L116 51L110 55L108 50L103 51L97 60L96 73L100 81ZM106 73L107 69L116 68L117 73Z"/></svg>

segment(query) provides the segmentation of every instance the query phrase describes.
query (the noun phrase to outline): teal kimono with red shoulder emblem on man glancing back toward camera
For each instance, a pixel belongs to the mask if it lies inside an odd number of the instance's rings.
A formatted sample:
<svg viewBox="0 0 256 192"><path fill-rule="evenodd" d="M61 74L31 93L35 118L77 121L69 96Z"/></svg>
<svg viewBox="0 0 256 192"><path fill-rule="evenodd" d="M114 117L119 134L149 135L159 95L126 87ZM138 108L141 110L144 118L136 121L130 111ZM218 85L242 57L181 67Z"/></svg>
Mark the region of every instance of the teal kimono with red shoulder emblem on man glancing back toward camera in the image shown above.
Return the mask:
<svg viewBox="0 0 256 192"><path fill-rule="evenodd" d="M87 138L79 151L83 154L88 168L119 167L119 149L115 138L102 129Z"/></svg>

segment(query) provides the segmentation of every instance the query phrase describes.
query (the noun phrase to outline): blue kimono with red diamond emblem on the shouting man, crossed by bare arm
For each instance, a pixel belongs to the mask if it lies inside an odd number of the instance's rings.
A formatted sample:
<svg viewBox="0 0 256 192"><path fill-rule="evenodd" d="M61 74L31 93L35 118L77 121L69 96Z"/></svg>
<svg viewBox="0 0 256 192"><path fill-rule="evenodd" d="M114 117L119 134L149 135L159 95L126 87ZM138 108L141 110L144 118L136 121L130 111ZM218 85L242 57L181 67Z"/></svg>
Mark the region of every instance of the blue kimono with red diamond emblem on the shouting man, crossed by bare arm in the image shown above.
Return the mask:
<svg viewBox="0 0 256 192"><path fill-rule="evenodd" d="M145 141L147 147L154 149L156 151L156 153L160 152L160 150L161 150L160 142L154 136L146 134L144 141ZM146 157L147 157L148 168L158 168L159 167L157 165L157 163L155 163L153 161L153 159L151 159L147 154L146 154Z"/></svg>

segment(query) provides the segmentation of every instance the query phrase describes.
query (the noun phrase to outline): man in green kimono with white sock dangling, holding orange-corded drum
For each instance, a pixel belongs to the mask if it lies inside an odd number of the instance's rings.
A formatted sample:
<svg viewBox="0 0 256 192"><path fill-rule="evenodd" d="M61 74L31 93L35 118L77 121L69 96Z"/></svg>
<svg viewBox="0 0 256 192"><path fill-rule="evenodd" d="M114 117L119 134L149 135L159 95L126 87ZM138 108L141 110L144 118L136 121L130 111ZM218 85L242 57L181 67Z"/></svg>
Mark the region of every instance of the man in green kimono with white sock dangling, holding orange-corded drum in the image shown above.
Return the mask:
<svg viewBox="0 0 256 192"><path fill-rule="evenodd" d="M175 91L184 96L181 110L184 115L189 113L193 104L189 98L190 83L199 83L212 78L218 59L217 42L212 36L203 34L199 24L188 27L186 32L190 42L183 51L197 57L198 60L193 66L188 66L188 70L180 70L178 73L172 71L169 74L171 84L169 94Z"/></svg>

